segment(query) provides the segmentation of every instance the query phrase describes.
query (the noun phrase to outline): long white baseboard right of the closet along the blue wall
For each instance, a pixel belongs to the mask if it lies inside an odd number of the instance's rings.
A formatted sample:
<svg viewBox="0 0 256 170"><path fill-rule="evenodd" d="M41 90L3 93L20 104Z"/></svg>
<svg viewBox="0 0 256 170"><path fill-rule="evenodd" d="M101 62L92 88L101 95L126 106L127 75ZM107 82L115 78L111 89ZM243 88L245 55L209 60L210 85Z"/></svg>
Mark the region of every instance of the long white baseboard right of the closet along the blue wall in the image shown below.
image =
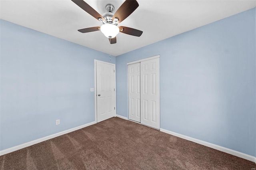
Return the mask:
<svg viewBox="0 0 256 170"><path fill-rule="evenodd" d="M160 128L160 131L161 132L165 132L165 133L168 133L168 134L171 134L173 136L177 136L179 138L182 138L182 139L186 139L186 140L189 140L189 141L192 141L192 142L195 142L195 143L198 143L198 144L202 144L204 146L208 146L210 148L214 148L216 150L220 150L222 152L226 152L228 154L232 154L234 156L238 156L240 158L244 158L246 160L250 160L252 162L255 162L256 163L256 157L254 156L251 156L251 155L248 155L248 154L244 154L242 152L238 152L236 150L232 150L232 149L229 149L229 148L225 148L225 147L222 147L222 146L218 146L216 144L212 144L212 143L209 143L209 142L205 142L203 140L199 140L199 139L196 139L196 138L192 138L192 137L189 137L189 136L186 136L186 135L183 135L183 134L179 134L179 133L176 133L176 132L172 132L172 131L169 131L169 130L165 130L163 128Z"/></svg>

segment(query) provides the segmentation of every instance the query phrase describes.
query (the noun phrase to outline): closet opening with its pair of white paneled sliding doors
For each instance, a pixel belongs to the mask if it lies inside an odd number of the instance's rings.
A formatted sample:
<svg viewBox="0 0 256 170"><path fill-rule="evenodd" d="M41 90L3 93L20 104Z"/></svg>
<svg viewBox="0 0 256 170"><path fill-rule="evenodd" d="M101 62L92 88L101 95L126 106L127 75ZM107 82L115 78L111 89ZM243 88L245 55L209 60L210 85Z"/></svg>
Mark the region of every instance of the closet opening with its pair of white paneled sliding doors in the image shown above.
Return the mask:
<svg viewBox="0 0 256 170"><path fill-rule="evenodd" d="M160 55L132 61L128 65L129 119L160 129Z"/></svg>

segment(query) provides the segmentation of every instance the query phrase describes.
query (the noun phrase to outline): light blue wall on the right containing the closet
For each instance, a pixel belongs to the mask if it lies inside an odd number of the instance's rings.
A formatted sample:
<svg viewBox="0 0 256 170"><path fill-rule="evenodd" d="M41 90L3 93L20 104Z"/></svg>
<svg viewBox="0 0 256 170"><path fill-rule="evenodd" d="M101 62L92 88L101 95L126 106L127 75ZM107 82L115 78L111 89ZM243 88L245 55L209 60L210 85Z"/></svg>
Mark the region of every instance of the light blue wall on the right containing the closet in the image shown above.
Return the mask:
<svg viewBox="0 0 256 170"><path fill-rule="evenodd" d="M126 63L160 54L160 127L256 156L255 18L254 8L116 57L117 114L128 117Z"/></svg>

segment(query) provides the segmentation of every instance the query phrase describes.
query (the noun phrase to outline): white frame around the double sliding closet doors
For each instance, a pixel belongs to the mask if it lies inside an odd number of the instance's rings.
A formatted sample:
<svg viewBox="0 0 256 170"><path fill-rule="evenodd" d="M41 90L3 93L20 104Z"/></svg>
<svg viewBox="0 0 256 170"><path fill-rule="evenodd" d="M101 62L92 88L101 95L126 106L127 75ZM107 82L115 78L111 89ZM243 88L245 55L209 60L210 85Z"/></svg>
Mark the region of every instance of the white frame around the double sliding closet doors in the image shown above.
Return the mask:
<svg viewBox="0 0 256 170"><path fill-rule="evenodd" d="M129 63L126 63L127 64L127 70L128 70L128 65L130 65L130 64L139 63L139 62L142 62L142 61L147 61L147 60L155 59L155 58L160 58L160 55L155 55L153 57L147 57L147 58L144 58L144 59L139 59L139 60L136 60L136 61L131 61ZM136 122L136 121L133 121L133 120L129 119L129 104L128 104L129 99L128 99L128 94L129 93L128 93L128 71L127 71L127 108L128 108L128 120L132 121L132 122ZM160 63L159 63L159 127L161 128L161 112L160 112L160 108L161 108L160 104L161 104L161 102L160 102L160 99L161 98L160 98ZM144 125L144 124L142 124L140 122L136 122L136 123ZM147 126L147 125L145 125L145 126ZM149 126L147 126L147 127L149 127ZM153 128L153 127L151 127L151 128ZM160 130L160 129L157 129L157 130Z"/></svg>

